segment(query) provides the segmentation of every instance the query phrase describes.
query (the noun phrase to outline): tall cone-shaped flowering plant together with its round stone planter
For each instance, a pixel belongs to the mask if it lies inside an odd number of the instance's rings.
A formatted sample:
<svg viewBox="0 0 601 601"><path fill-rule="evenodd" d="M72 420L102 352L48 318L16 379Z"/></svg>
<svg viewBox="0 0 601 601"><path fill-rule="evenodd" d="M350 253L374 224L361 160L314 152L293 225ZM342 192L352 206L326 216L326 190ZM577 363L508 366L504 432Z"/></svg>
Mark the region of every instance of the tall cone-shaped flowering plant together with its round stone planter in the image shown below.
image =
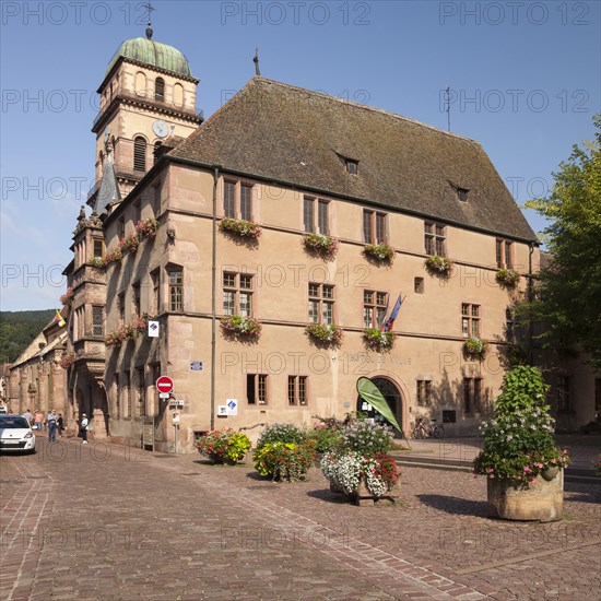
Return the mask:
<svg viewBox="0 0 601 601"><path fill-rule="evenodd" d="M491 420L481 426L484 449L474 460L474 474L487 479L488 507L495 517L563 517L563 470L570 460L553 438L547 388L538 368L515 367L505 375Z"/></svg>

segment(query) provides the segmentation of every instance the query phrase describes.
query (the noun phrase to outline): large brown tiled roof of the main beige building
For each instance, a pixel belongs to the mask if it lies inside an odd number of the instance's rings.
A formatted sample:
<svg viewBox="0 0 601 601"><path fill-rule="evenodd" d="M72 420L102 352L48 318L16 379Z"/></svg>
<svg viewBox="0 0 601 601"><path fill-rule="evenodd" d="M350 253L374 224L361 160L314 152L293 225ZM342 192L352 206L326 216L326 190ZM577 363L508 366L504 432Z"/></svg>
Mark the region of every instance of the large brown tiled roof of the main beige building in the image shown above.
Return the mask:
<svg viewBox="0 0 601 601"><path fill-rule="evenodd" d="M255 76L172 156L534 239L474 140ZM358 162L346 173L345 158ZM457 189L468 191L459 200Z"/></svg>

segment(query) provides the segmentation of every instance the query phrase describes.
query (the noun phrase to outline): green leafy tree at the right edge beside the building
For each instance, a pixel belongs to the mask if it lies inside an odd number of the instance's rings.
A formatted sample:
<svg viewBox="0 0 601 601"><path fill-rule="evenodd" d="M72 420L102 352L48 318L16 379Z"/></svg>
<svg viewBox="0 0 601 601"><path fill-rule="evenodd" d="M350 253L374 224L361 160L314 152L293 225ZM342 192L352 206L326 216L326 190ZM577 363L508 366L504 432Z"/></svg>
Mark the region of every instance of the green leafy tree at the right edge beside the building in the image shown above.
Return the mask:
<svg viewBox="0 0 601 601"><path fill-rule="evenodd" d="M543 234L552 255L529 309L545 325L545 345L579 344L601 367L601 115L593 123L594 140L574 145L551 193L527 202L550 221Z"/></svg>

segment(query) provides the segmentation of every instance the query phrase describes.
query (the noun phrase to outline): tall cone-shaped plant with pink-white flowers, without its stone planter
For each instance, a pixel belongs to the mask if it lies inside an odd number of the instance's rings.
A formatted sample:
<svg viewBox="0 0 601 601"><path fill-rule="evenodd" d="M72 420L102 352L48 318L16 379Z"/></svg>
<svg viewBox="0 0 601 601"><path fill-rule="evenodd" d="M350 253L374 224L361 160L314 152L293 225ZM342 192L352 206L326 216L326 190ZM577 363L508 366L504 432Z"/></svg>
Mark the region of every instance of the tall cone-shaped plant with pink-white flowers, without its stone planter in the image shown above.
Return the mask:
<svg viewBox="0 0 601 601"><path fill-rule="evenodd" d="M555 421L544 404L547 386L535 367L520 365L505 375L490 421L481 425L484 450L474 474L528 486L549 468L565 468L570 458L555 445Z"/></svg>

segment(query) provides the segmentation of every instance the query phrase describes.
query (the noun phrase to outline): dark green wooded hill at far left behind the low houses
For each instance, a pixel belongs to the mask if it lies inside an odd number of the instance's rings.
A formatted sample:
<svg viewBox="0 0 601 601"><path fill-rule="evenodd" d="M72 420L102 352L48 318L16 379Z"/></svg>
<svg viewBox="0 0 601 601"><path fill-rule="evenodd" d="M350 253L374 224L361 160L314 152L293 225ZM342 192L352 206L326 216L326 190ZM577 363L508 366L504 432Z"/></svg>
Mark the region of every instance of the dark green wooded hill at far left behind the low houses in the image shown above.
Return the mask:
<svg viewBox="0 0 601 601"><path fill-rule="evenodd" d="M0 311L0 363L12 363L54 316L54 309Z"/></svg>

